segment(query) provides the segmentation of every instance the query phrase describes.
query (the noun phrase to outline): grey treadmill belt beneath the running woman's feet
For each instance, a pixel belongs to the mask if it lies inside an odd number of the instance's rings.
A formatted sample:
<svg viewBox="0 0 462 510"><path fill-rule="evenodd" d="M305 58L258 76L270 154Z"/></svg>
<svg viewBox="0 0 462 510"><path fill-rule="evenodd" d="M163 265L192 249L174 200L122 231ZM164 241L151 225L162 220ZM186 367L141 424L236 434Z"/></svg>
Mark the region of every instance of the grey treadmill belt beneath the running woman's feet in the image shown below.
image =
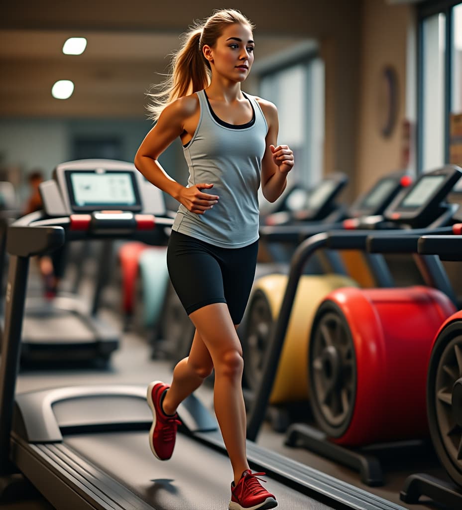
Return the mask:
<svg viewBox="0 0 462 510"><path fill-rule="evenodd" d="M158 510L220 510L228 507L233 471L227 456L183 434L169 461L149 448L147 432L66 436L65 444ZM265 476L279 508L333 510Z"/></svg>

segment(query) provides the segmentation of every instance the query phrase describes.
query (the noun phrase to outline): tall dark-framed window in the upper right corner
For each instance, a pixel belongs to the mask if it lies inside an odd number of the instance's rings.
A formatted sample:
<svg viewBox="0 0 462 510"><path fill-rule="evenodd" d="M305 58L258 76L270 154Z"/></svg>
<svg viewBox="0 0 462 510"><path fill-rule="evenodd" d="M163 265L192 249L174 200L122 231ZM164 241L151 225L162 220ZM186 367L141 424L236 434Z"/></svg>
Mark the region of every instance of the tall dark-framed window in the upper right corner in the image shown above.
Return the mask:
<svg viewBox="0 0 462 510"><path fill-rule="evenodd" d="M422 4L419 41L418 169L462 166L462 2Z"/></svg>

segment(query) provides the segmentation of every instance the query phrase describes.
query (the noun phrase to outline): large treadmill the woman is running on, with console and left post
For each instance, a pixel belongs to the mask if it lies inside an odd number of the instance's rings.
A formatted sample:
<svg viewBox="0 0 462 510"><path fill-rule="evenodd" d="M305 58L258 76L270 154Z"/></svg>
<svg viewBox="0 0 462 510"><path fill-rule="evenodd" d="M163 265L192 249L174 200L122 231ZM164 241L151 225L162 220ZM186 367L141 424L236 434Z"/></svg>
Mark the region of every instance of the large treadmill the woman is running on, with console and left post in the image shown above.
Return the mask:
<svg viewBox="0 0 462 510"><path fill-rule="evenodd" d="M58 510L225 508L232 470L216 420L194 396L178 409L183 425L168 462L156 460L148 445L152 415L144 386L74 386L15 397L30 257L74 239L149 238L155 244L172 224L147 214L142 176L133 168L65 163L43 191L48 213L54 214L23 217L8 231L0 365L2 495L13 492L22 473ZM268 487L283 508L404 510L251 442L247 448L252 469L266 471Z"/></svg>

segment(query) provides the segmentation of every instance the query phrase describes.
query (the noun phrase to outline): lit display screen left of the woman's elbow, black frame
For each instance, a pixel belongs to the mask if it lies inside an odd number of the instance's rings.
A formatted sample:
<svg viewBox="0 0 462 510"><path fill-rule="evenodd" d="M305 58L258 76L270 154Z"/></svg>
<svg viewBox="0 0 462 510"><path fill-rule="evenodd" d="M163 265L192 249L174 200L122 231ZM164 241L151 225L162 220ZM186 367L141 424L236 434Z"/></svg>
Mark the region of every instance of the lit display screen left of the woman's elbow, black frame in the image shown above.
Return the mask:
<svg viewBox="0 0 462 510"><path fill-rule="evenodd" d="M133 172L68 170L66 181L75 210L121 209L138 211L141 201Z"/></svg>

